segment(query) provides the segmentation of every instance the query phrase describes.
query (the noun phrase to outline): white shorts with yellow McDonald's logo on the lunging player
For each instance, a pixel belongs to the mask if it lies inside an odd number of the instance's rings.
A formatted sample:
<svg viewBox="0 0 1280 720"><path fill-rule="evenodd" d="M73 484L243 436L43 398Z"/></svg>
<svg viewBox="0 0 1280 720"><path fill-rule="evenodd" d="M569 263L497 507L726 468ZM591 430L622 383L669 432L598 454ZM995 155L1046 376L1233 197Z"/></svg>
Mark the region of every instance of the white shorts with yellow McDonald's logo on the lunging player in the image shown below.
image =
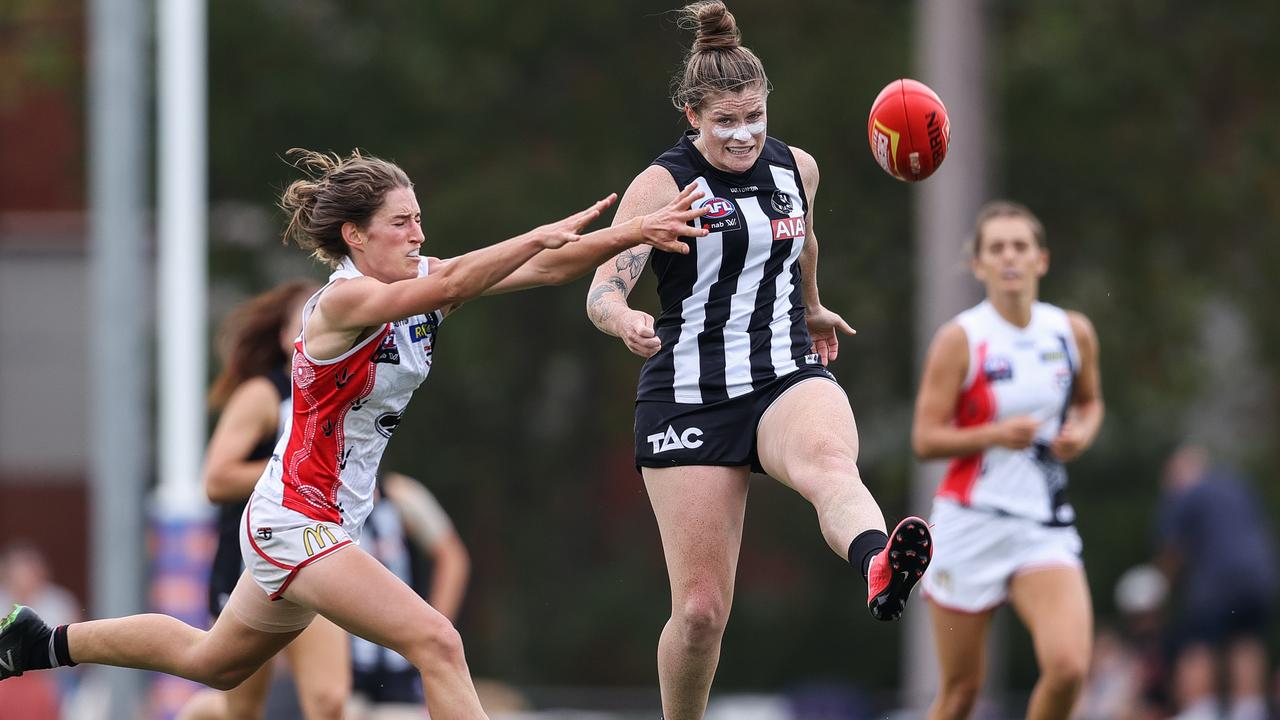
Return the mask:
<svg viewBox="0 0 1280 720"><path fill-rule="evenodd" d="M355 541L338 523L312 520L255 492L241 516L241 557L268 597L279 601L298 570Z"/></svg>

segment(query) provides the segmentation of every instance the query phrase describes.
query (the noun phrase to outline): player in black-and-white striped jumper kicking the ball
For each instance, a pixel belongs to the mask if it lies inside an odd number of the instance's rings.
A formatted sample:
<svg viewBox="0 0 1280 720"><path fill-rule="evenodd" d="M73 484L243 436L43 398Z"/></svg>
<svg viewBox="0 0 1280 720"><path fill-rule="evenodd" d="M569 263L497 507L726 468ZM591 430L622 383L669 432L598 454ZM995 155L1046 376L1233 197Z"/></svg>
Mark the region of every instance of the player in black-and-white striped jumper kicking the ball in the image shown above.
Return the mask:
<svg viewBox="0 0 1280 720"><path fill-rule="evenodd" d="M690 241L687 255L653 254L657 323L627 305L646 247L602 265L586 302L600 331L648 359L635 443L671 580L658 641L667 720L705 711L753 469L813 503L827 543L868 578L878 619L901 614L931 552L919 518L886 536L858 471L849 398L826 369L837 331L854 331L818 299L818 167L765 135L769 82L724 4L689 5L682 19L696 37L673 102L692 129L631 182L614 222L663 208L692 183L705 193L698 223L710 234Z"/></svg>

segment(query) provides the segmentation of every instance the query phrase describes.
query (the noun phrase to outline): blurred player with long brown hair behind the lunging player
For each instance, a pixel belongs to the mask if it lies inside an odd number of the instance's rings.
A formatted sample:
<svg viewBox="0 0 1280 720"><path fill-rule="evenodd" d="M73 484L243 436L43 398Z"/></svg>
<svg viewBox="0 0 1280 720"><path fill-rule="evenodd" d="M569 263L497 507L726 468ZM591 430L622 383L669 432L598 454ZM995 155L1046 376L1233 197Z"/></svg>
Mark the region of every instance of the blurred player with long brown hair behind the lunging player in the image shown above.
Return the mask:
<svg viewBox="0 0 1280 720"><path fill-rule="evenodd" d="M209 392L221 414L205 450L205 492L218 503L218 551L209 577L209 612L216 619L244 571L239 523L288 418L289 365L302 329L302 304L319 290L311 281L282 283L228 315L220 333L223 370ZM284 648L307 720L342 717L351 694L347 633L317 618ZM195 694L178 720L262 717L271 664L239 687Z"/></svg>

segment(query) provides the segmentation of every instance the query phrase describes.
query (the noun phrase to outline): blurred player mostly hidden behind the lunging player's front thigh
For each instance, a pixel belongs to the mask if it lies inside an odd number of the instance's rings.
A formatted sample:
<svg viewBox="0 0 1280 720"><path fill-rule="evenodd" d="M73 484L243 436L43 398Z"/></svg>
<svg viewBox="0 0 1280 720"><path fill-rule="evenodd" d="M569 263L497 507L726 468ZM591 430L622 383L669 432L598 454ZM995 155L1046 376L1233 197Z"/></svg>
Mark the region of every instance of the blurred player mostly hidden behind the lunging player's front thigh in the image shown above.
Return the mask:
<svg viewBox="0 0 1280 720"><path fill-rule="evenodd" d="M448 514L422 483L399 473L379 482L380 500L365 521L360 546L406 584L426 589L431 607L457 623L471 560ZM430 566L417 582L416 560ZM355 697L349 720L422 717L422 679L403 656L366 639L351 639Z"/></svg>

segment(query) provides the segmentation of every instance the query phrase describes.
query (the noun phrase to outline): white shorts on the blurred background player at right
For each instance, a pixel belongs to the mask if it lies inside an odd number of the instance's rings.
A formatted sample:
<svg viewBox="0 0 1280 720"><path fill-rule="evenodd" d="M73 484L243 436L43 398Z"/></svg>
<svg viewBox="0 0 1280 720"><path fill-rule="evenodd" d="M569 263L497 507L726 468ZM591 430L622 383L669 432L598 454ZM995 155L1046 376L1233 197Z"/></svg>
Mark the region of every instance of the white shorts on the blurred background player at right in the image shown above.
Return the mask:
<svg viewBox="0 0 1280 720"><path fill-rule="evenodd" d="M973 510L936 500L933 560L922 588L947 610L983 612L1009 598L1009 580L1042 568L1082 568L1080 534L1073 527Z"/></svg>

